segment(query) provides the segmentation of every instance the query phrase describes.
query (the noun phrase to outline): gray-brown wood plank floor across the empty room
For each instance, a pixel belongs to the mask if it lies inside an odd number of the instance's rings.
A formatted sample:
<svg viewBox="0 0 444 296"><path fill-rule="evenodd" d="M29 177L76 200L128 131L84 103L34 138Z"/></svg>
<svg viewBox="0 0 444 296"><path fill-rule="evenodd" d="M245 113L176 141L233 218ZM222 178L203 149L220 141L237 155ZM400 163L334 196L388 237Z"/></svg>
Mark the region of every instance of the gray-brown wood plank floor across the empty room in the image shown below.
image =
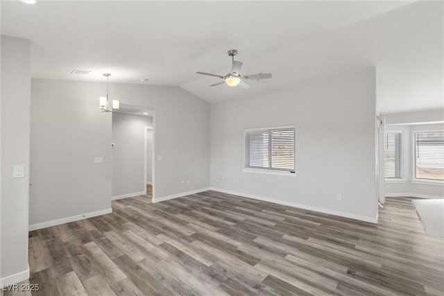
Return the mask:
<svg viewBox="0 0 444 296"><path fill-rule="evenodd" d="M112 209L30 232L33 295L444 295L411 198L377 225L215 191Z"/></svg>

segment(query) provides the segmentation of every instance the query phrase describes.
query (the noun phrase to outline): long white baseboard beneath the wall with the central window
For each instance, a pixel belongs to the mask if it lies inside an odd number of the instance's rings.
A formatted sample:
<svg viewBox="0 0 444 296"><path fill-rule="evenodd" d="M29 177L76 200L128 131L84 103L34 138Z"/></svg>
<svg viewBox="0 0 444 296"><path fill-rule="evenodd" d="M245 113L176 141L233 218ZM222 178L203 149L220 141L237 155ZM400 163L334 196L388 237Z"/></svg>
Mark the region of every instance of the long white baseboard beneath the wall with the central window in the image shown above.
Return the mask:
<svg viewBox="0 0 444 296"><path fill-rule="evenodd" d="M332 211L330 209L324 209L324 208L320 208L320 207L311 207L311 206L307 206L305 204L296 204L294 202L284 202L282 200L273 200L272 198L264 198L262 196L252 195L252 194L248 194L248 193L240 193L240 192L235 192L235 191L229 191L229 190L219 189L219 188L214 188L214 187L211 187L210 190L219 191L222 193L233 194L233 195L239 195L244 198L253 198L254 200L262 200L264 202L273 202L275 204L282 204L282 205L289 206L289 207L297 207L298 209L307 209L309 211L318 211L323 214L330 214L330 215L334 215L334 216L340 216L340 217L344 217L344 218L350 218L350 219L360 220L360 221L369 222L369 223L375 223L375 224L377 223L377 217L371 218L371 217L346 213L343 211Z"/></svg>

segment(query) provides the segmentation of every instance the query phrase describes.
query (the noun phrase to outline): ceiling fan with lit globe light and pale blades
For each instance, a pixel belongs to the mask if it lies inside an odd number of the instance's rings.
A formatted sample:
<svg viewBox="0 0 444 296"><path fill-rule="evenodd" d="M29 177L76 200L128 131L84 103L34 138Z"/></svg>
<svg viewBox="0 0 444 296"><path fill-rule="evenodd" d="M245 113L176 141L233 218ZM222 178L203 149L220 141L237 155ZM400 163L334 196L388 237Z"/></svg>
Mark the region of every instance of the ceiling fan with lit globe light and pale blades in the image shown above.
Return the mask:
<svg viewBox="0 0 444 296"><path fill-rule="evenodd" d="M235 86L239 85L240 87L242 87L244 89L248 89L248 88L250 88L250 85L246 84L246 82L244 80L248 80L248 79L260 80L260 79L271 78L271 73L258 73L258 74L251 74L251 75L242 76L240 74L242 62L234 60L234 55L237 55L237 50L231 49L230 51L228 51L228 55L230 55L230 57L232 59L232 67L231 67L230 73L228 73L227 75L223 76L223 75L217 75L217 74L205 73L205 72L196 72L196 73L202 74L202 75L208 75L208 76L215 76L215 77L219 77L219 78L223 79L223 81L214 83L214 85L210 85L210 87L214 87L216 85L223 85L224 83L226 83L230 87L235 87Z"/></svg>

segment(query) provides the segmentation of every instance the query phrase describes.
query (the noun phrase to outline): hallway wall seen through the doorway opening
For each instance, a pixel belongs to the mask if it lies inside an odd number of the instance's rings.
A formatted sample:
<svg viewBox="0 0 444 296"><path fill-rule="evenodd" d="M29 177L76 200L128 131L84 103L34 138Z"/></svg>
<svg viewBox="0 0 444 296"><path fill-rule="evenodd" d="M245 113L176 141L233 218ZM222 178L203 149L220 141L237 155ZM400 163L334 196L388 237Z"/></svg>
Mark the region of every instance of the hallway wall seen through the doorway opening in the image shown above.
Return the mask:
<svg viewBox="0 0 444 296"><path fill-rule="evenodd" d="M145 134L153 117L112 114L112 197L141 195L146 190Z"/></svg>

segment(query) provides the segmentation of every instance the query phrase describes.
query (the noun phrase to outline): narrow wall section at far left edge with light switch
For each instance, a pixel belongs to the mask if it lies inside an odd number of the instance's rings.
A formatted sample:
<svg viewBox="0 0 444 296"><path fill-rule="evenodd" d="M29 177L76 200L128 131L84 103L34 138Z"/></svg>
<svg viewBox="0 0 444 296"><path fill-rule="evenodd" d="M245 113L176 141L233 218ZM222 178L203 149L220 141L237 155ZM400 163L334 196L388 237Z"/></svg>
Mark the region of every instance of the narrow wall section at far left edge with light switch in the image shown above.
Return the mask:
<svg viewBox="0 0 444 296"><path fill-rule="evenodd" d="M29 40L1 36L0 285L29 277L30 108ZM12 166L24 166L24 178L12 178Z"/></svg>

